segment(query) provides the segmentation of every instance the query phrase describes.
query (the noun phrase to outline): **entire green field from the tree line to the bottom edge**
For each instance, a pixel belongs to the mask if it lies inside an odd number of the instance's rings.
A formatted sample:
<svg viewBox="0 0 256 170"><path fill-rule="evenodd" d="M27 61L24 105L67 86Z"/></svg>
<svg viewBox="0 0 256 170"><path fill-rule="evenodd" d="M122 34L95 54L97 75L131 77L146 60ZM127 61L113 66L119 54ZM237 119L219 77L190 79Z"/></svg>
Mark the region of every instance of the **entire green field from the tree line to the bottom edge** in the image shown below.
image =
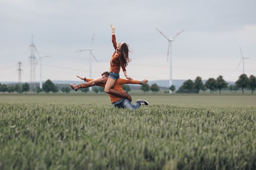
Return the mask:
<svg viewBox="0 0 256 170"><path fill-rule="evenodd" d="M256 95L132 98L0 94L0 169L256 169Z"/></svg>

